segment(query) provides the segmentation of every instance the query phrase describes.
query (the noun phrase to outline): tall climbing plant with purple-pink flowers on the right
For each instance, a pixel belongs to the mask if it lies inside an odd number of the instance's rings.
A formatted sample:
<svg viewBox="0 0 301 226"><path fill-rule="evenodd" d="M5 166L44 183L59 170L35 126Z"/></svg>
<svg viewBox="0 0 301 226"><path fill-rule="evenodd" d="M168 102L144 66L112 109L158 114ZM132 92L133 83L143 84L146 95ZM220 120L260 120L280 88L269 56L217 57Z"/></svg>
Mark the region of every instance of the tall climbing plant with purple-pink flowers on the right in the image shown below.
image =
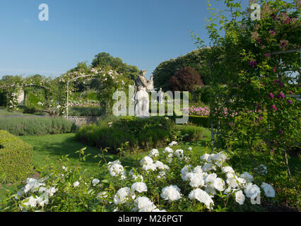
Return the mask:
<svg viewBox="0 0 301 226"><path fill-rule="evenodd" d="M234 0L225 1L230 19L209 8L211 119L218 130L216 144L281 153L290 174L287 150L298 146L301 128L300 102L291 97L300 94L300 52L294 52L300 49L300 3L257 2L260 20L252 20L251 9L241 11Z"/></svg>

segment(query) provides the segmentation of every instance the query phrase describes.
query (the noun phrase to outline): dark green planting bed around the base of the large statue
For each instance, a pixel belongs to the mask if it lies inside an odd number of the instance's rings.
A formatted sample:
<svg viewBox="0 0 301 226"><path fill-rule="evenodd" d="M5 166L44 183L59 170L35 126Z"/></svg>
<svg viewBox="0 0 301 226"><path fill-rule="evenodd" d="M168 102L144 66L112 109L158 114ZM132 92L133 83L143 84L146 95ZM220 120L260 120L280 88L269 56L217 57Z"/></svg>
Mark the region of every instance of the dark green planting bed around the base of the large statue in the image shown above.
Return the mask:
<svg viewBox="0 0 301 226"><path fill-rule="evenodd" d="M174 141L175 123L165 117L121 117L104 120L97 125L82 126L76 133L78 141L97 148L110 148L113 153L129 141L130 150L149 149Z"/></svg>

